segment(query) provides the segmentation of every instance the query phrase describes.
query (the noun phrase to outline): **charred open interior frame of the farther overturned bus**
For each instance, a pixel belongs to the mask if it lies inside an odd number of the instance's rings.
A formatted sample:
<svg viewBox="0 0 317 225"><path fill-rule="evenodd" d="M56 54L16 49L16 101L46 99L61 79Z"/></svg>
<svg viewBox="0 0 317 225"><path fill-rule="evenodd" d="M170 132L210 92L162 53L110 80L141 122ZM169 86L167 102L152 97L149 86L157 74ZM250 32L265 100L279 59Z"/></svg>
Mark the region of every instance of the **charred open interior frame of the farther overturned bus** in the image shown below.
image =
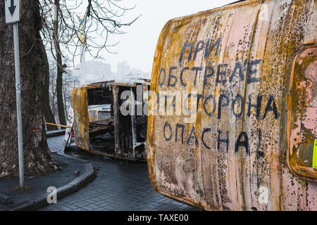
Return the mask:
<svg viewBox="0 0 317 225"><path fill-rule="evenodd" d="M142 103L137 101L137 86L142 86L142 100L145 100ZM87 89L90 150L129 160L147 158L147 115L123 115L120 108L123 104L128 109L134 107L131 109L134 112L137 104L142 104L143 108L147 103L148 89L149 82L104 82ZM123 91L133 92L134 103L130 103L129 98L121 99Z"/></svg>

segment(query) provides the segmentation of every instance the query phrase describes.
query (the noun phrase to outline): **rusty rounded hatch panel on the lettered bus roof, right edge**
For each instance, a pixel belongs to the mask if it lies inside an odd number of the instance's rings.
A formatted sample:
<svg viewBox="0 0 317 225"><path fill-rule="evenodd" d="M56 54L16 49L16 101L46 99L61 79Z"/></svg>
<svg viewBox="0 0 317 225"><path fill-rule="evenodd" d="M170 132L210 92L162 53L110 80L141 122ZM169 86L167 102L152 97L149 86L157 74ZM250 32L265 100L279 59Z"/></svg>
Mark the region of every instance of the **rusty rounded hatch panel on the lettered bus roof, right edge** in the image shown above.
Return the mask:
<svg viewBox="0 0 317 225"><path fill-rule="evenodd" d="M317 46L296 56L288 100L287 163L302 179L317 182ZM314 150L316 148L316 150Z"/></svg>

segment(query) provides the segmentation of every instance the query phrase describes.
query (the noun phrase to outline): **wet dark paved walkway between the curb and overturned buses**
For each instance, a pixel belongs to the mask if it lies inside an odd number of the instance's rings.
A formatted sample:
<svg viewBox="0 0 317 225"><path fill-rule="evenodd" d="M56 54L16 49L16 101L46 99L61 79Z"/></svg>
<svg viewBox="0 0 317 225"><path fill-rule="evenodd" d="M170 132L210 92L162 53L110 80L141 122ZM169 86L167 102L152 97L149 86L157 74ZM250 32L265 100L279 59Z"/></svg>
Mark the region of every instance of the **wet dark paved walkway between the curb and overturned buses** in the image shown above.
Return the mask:
<svg viewBox="0 0 317 225"><path fill-rule="evenodd" d="M63 136L51 137L47 142L53 152L63 150L65 143ZM85 188L41 210L198 210L156 193L149 181L146 162L103 158L86 153L75 145L70 146L66 153L92 162L92 166L99 169L97 177Z"/></svg>

